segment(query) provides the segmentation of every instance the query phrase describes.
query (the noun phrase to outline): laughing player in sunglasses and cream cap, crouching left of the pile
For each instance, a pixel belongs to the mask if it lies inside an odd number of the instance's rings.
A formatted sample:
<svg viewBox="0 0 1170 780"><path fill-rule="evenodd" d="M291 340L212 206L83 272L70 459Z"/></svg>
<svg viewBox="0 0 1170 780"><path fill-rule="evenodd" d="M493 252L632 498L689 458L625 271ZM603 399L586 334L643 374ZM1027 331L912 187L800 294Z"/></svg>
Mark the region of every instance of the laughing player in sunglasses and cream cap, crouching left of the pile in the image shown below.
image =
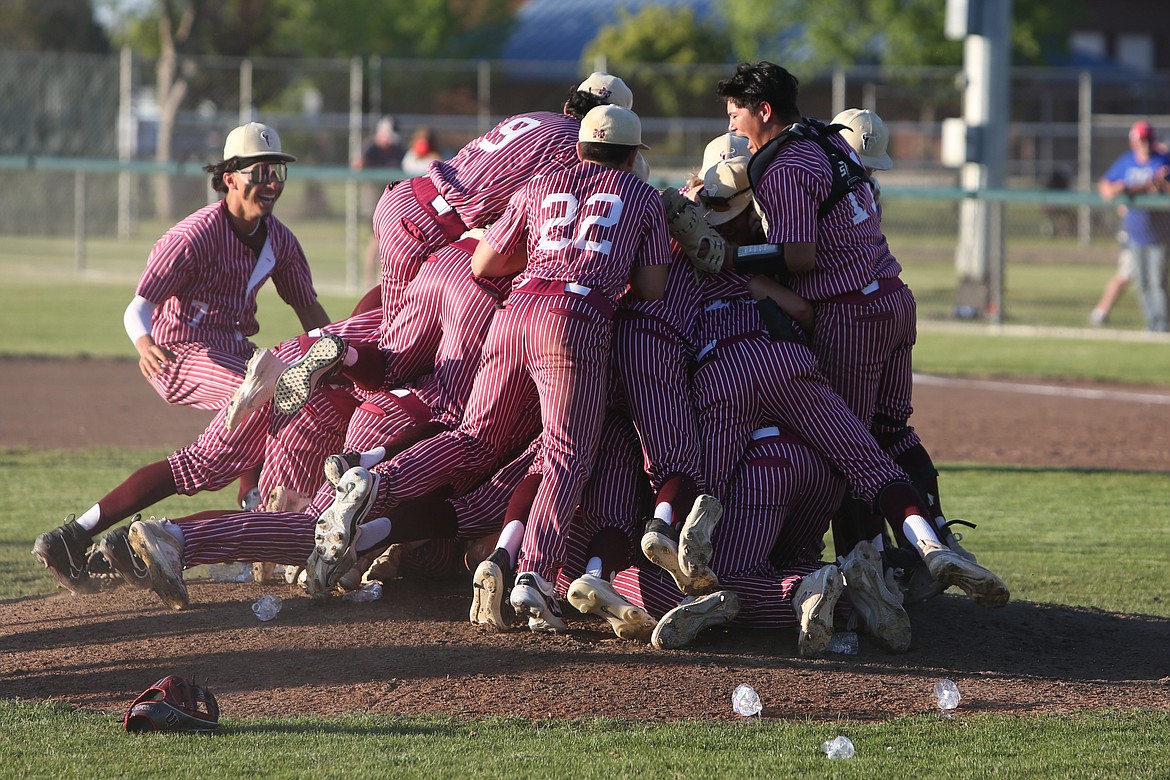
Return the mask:
<svg viewBox="0 0 1170 780"><path fill-rule="evenodd" d="M124 323L143 375L167 403L227 403L255 350L256 294L269 277L305 330L329 323L300 242L273 216L294 160L268 125L236 127L223 159L206 167L223 198L154 244Z"/></svg>

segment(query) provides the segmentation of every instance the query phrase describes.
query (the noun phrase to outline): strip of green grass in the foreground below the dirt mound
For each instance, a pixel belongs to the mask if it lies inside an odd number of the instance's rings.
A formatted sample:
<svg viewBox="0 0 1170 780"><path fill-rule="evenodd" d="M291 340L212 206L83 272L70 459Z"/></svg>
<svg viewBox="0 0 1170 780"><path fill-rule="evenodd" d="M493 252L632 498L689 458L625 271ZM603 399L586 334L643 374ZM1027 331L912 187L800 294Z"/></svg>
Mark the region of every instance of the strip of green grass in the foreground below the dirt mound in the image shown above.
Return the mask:
<svg viewBox="0 0 1170 780"><path fill-rule="evenodd" d="M109 716L0 702L8 776L1157 778L1170 713L916 716L881 724L639 724L512 718L226 720L212 736L128 737ZM820 744L849 737L854 758ZM1140 734L1140 738L1136 736ZM263 761L257 766L257 758ZM150 767L150 768L145 768ZM11 773L11 774L9 774Z"/></svg>

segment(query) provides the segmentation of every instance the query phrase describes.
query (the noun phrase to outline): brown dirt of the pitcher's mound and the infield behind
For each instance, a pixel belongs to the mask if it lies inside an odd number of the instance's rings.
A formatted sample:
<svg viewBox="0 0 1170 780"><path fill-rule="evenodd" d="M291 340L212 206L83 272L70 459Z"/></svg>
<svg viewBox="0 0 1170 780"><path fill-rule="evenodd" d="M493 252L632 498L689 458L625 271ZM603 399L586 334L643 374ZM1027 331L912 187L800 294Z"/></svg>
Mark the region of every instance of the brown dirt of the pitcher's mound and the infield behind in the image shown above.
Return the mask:
<svg viewBox="0 0 1170 780"><path fill-rule="evenodd" d="M130 361L0 361L0 447L186 443L209 420L166 407ZM1068 388L1083 391L1086 388ZM1154 388L1115 398L920 385L915 424L941 462L1170 470L1158 437L1170 403ZM1147 393L1144 402L1135 394ZM1148 442L1148 443L1147 443ZM249 605L278 592L260 623ZM915 608L901 656L862 637L853 656L806 661L792 631L711 630L684 651L621 642L570 616L565 636L483 634L468 624L469 578L387 585L380 601L325 608L283 586L193 581L171 612L122 588L0 602L0 696L119 713L167 674L207 679L232 718L393 712L732 719L749 683L768 718L880 720L935 711L950 677L961 713L1170 709L1170 621L1054 605L980 609L958 594Z"/></svg>

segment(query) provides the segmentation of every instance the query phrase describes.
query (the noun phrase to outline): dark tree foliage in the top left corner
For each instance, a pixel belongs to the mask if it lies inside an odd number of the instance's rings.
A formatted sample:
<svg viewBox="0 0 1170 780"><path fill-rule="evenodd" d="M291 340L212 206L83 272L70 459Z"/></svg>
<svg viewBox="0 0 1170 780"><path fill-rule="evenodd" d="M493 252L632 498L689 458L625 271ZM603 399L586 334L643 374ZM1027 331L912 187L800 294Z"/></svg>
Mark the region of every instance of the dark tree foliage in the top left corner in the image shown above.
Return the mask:
<svg viewBox="0 0 1170 780"><path fill-rule="evenodd" d="M110 50L89 0L8 0L0 13L0 50Z"/></svg>

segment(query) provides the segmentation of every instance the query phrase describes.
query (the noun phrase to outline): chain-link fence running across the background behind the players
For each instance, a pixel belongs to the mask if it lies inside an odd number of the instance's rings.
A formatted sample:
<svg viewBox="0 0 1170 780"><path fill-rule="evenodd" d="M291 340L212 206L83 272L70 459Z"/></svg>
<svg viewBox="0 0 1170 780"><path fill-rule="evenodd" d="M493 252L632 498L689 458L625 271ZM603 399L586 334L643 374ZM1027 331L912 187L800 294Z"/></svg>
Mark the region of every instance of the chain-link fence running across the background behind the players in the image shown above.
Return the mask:
<svg viewBox="0 0 1170 780"><path fill-rule="evenodd" d="M322 284L357 290L370 235L359 188L401 175L349 167L380 116L393 115L404 138L432 127L449 153L504 116L559 109L584 75L560 62L190 58L177 63L186 91L160 146L157 65L128 53L0 53L0 168L8 182L0 191L0 262L137 276L150 243L208 202L200 166L220 158L227 131L260 119L298 157L278 216L307 244ZM728 65L596 67L633 88L660 186L681 182L707 141L725 131L714 84ZM1013 71L1011 198L963 193L957 172L940 163L942 119L962 113L958 77L938 68L813 74L801 78L800 108L828 118L865 105L886 119L895 168L880 174L883 223L924 318L955 313L959 202L982 196L1004 202L1005 322L1083 324L1119 251L1115 209L1094 184L1126 149L1134 119L1170 133L1170 75ZM160 188L171 195L170 213L160 212ZM1141 327L1141 315L1115 322Z"/></svg>

